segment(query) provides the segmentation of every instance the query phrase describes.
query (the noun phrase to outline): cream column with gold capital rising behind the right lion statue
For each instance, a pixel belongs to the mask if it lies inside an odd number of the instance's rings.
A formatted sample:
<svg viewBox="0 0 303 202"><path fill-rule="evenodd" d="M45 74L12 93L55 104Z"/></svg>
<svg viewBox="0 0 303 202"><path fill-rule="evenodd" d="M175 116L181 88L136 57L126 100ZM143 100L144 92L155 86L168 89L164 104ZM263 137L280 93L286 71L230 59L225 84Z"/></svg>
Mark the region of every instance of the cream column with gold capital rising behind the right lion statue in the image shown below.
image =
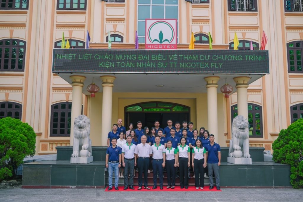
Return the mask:
<svg viewBox="0 0 303 202"><path fill-rule="evenodd" d="M247 88L249 79L251 79L251 77L248 76L238 76L234 78L237 88L238 115L242 115L246 119L248 119Z"/></svg>

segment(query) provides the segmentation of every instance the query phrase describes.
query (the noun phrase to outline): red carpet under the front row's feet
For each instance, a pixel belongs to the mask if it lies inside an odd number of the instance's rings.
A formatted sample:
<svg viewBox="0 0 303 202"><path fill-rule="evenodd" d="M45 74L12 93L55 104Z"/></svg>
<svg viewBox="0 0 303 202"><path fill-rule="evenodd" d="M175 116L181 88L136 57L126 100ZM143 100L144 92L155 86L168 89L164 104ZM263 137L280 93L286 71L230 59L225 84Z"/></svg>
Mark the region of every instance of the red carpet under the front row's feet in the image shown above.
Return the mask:
<svg viewBox="0 0 303 202"><path fill-rule="evenodd" d="M152 188L153 186L150 186L149 188ZM105 191L108 191L107 190L108 187L106 187ZM147 189L144 189L142 187L142 190L138 190L138 186L134 186L134 190L131 190L131 189L127 189L127 190L123 190L124 186L119 186L118 187L119 190L115 190L115 187L113 187L112 190L108 191L108 192L112 192L112 191L222 191L222 190L217 190L216 187L214 187L213 189L209 189L209 186L204 186L204 189L196 189L195 186L189 186L188 189L181 189L180 186L176 186L175 189L166 189L166 186L163 186L163 189L161 190L160 187L158 186L157 189L150 189L150 190L147 190Z"/></svg>

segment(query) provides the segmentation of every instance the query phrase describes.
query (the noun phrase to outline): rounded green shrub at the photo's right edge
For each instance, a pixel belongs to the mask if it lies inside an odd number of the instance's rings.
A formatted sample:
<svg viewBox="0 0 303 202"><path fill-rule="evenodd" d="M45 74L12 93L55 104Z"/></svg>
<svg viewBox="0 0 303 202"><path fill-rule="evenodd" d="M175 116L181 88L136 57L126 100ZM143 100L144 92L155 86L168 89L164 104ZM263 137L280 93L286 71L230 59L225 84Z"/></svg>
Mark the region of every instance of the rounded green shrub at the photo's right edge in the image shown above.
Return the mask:
<svg viewBox="0 0 303 202"><path fill-rule="evenodd" d="M282 129L272 143L273 160L291 166L290 183L293 188L303 186L303 119Z"/></svg>

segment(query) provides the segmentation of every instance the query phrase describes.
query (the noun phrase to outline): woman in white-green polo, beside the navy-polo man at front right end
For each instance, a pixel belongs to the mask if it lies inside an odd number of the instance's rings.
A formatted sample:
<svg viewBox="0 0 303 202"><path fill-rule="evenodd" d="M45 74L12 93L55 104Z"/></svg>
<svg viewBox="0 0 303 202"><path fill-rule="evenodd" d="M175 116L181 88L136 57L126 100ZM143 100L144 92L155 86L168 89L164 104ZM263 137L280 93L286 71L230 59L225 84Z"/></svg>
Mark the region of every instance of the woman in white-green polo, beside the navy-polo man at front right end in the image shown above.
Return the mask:
<svg viewBox="0 0 303 202"><path fill-rule="evenodd" d="M196 189L203 189L204 187L204 168L206 167L206 150L202 146L201 140L196 140L196 146L192 149L191 165L195 171L195 186ZM200 180L199 180L200 174Z"/></svg>

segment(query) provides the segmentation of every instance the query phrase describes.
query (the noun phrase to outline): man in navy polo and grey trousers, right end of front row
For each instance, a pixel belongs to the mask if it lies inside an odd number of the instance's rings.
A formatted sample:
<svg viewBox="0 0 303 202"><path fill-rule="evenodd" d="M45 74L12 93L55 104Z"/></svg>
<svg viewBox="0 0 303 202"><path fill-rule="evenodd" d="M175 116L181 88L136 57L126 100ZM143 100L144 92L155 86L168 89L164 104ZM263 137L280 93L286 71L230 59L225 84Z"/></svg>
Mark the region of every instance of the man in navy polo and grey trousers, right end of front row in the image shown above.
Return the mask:
<svg viewBox="0 0 303 202"><path fill-rule="evenodd" d="M214 172L216 177L217 190L220 190L219 166L221 165L221 149L220 145L215 143L215 136L213 134L209 135L209 144L206 146L206 159L210 185L209 189L214 188L214 182L212 179L212 174Z"/></svg>

